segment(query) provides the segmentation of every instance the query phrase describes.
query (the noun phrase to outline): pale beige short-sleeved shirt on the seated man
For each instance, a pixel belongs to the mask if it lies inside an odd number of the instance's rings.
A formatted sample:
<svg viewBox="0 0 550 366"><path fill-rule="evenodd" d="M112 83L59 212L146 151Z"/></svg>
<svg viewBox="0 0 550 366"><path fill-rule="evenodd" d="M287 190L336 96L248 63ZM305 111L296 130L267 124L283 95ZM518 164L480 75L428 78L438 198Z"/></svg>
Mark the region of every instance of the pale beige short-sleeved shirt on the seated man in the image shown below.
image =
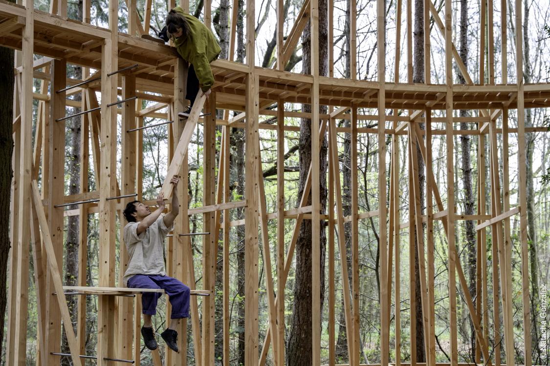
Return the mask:
<svg viewBox="0 0 550 366"><path fill-rule="evenodd" d="M124 227L124 244L128 250L128 268L124 273L124 286L136 274L166 275L164 269L164 238L173 230L167 228L164 214L159 216L144 232L138 235L139 222L129 222Z"/></svg>

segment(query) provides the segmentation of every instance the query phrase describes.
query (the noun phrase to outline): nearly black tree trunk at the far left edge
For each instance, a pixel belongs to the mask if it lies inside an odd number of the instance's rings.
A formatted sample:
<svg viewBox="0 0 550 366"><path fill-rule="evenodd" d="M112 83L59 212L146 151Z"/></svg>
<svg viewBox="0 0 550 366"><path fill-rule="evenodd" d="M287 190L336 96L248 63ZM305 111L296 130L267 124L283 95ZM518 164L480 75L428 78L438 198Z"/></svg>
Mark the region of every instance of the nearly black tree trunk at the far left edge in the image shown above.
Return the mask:
<svg viewBox="0 0 550 366"><path fill-rule="evenodd" d="M3 353L7 304L7 268L10 249L9 218L13 154L13 49L0 47L0 354Z"/></svg>

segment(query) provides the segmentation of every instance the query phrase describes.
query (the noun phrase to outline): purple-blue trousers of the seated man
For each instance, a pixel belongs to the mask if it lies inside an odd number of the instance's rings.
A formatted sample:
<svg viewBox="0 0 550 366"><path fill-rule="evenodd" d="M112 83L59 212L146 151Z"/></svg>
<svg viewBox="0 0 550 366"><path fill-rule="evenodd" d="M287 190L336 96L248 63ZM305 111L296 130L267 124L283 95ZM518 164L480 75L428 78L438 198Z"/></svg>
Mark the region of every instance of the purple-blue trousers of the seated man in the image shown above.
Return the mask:
<svg viewBox="0 0 550 366"><path fill-rule="evenodd" d="M133 289L163 289L172 304L171 319L189 318L189 287L175 278L158 274L136 274L128 280ZM157 301L160 292L143 292L141 295L142 312L148 315L157 313Z"/></svg>

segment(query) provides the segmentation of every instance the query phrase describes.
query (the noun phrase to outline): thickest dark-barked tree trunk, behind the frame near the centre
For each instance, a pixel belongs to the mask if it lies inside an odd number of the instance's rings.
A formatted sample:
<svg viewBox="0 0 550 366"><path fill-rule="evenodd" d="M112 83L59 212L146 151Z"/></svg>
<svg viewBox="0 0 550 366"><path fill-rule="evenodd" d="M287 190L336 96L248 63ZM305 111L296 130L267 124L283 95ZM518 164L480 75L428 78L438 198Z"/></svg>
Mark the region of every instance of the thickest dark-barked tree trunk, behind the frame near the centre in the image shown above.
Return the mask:
<svg viewBox="0 0 550 366"><path fill-rule="evenodd" d="M327 47L327 2L319 2L319 74L328 74L328 47ZM311 60L311 30L306 26L303 34L303 74L310 74ZM303 105L305 112L311 112L310 105ZM321 108L321 113L326 113L326 107ZM327 206L327 153L328 140L323 138L320 144L320 195L321 212L325 212ZM298 196L304 192L307 172L311 164L311 120L302 119L300 123L300 181ZM313 184L316 184L314 182ZM308 199L311 204L311 195ZM324 222L320 233L321 246L321 309L324 300L324 255L326 252L326 231ZM294 286L293 318L287 342L287 364L311 365L312 340L311 340L311 220L304 220L300 227L298 241L296 242L296 278Z"/></svg>

